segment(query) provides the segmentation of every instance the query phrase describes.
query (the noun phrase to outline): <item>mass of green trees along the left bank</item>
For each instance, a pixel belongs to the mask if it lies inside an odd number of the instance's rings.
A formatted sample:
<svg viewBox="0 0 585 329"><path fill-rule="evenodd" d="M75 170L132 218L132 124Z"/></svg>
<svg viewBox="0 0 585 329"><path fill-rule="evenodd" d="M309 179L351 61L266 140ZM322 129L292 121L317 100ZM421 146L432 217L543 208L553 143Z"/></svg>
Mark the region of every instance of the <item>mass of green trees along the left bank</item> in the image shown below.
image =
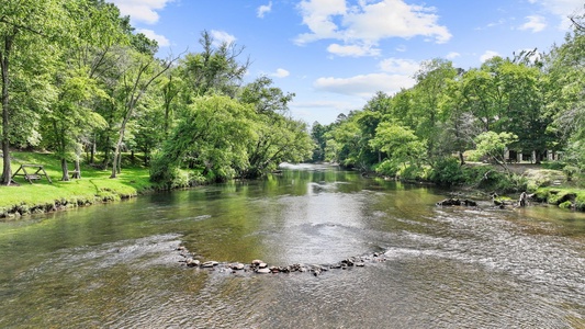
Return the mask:
<svg viewBox="0 0 585 329"><path fill-rule="evenodd" d="M139 152L168 188L256 178L311 157L307 125L288 110L294 94L268 77L244 83L244 47L206 31L201 52L160 59L112 3L8 0L0 39L2 184L14 148L56 155L63 181L81 161L116 178L121 155Z"/></svg>

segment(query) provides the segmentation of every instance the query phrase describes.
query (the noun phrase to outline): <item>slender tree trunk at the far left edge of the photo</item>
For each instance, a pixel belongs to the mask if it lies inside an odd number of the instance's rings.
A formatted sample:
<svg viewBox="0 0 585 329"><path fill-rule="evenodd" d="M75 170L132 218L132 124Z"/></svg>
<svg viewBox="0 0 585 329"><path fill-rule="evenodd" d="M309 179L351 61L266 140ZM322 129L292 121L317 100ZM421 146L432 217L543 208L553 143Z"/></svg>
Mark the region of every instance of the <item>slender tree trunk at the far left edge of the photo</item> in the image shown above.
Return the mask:
<svg viewBox="0 0 585 329"><path fill-rule="evenodd" d="M10 185L12 182L12 168L10 163L10 134L9 134L9 54L12 48L12 37L4 36L4 49L0 52L0 66L2 70L2 177L1 184Z"/></svg>

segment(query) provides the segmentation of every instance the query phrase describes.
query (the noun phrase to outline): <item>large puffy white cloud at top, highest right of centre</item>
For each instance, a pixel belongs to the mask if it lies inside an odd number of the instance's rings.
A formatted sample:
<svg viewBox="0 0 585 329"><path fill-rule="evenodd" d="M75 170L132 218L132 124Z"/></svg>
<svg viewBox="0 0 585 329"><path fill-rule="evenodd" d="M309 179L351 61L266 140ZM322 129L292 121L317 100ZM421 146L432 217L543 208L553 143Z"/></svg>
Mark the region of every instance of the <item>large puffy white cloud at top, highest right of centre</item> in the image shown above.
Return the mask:
<svg viewBox="0 0 585 329"><path fill-rule="evenodd" d="M358 1L351 7L346 0L303 0L299 10L310 32L299 35L295 43L344 42L344 45L329 46L329 50L337 52L334 54L359 54L360 47L363 50L360 45L375 49L380 41L392 37L425 36L439 44L451 38L448 29L438 24L435 8L407 4L404 0ZM375 55L362 52L360 56Z"/></svg>

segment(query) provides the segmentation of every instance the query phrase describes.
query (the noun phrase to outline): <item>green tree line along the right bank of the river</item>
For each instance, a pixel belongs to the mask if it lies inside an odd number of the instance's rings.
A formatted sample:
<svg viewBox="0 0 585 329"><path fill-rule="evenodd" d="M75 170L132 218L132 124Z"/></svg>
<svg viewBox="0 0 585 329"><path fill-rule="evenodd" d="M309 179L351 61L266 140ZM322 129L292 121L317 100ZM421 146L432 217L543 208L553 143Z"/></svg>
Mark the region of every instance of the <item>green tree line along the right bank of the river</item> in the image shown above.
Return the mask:
<svg viewBox="0 0 585 329"><path fill-rule="evenodd" d="M469 70L431 59L413 88L378 92L335 123L314 123L313 160L446 184L458 181L465 159L506 168L506 148L535 152L536 161L562 152L563 163L583 169L584 76L582 23L548 53L494 57Z"/></svg>

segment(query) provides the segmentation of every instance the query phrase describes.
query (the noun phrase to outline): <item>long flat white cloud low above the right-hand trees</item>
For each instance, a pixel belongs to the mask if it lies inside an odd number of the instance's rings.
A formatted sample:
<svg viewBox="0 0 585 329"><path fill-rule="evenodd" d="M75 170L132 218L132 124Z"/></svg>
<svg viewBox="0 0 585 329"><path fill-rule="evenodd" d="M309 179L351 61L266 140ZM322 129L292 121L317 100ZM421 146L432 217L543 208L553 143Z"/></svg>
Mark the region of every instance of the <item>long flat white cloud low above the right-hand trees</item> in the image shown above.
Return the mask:
<svg viewBox="0 0 585 329"><path fill-rule="evenodd" d="M378 91L395 93L401 88L415 84L413 78L404 75L370 73L351 78L319 78L313 86L320 91L328 91L346 95L358 95L363 99L372 98Z"/></svg>

